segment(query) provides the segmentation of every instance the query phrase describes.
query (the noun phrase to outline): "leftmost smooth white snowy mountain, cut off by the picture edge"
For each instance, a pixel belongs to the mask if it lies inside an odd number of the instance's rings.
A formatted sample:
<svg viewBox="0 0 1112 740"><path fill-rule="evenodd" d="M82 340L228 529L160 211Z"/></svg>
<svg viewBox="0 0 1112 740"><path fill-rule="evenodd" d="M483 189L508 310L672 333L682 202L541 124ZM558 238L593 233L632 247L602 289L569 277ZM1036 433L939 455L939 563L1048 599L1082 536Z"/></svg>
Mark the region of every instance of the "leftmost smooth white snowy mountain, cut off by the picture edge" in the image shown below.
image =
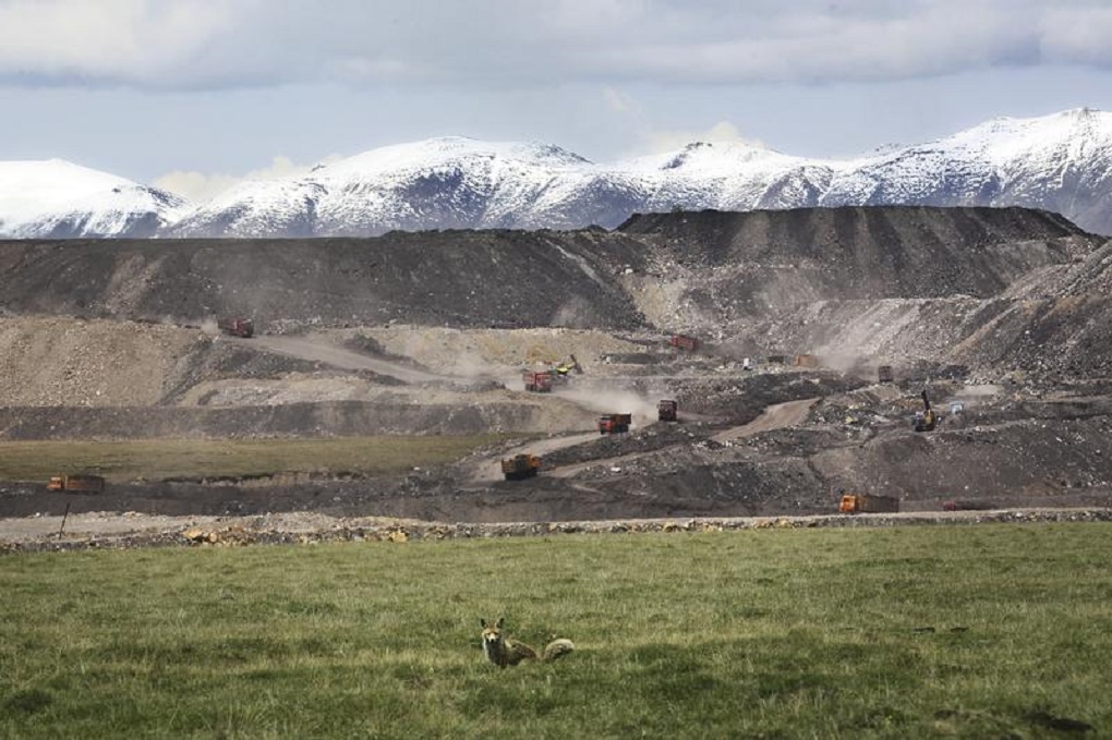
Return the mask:
<svg viewBox="0 0 1112 740"><path fill-rule="evenodd" d="M0 238L155 236L186 202L58 159L0 162Z"/></svg>

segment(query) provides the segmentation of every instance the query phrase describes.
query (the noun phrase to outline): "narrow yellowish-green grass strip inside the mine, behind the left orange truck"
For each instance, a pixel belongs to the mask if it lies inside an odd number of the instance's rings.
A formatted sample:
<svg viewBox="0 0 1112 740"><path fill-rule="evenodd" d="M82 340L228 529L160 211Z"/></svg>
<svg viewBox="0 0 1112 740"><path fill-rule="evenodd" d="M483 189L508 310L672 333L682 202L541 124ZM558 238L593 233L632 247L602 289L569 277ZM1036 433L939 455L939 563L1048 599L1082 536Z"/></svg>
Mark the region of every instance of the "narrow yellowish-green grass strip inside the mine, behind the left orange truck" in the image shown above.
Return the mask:
<svg viewBox="0 0 1112 740"><path fill-rule="evenodd" d="M505 437L0 442L0 480L44 481L60 472L97 473L116 482L320 470L376 476L451 462L499 439Z"/></svg>

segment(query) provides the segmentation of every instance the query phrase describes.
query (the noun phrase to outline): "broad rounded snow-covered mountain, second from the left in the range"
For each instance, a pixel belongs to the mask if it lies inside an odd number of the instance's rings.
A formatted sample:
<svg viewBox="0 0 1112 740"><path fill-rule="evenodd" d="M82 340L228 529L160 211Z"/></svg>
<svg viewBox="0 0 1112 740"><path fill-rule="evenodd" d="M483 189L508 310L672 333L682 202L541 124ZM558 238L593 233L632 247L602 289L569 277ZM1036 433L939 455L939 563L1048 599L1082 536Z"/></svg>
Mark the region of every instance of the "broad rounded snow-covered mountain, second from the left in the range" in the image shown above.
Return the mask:
<svg viewBox="0 0 1112 740"><path fill-rule="evenodd" d="M296 179L246 182L173 226L175 236L366 236L391 229L532 228L530 208L589 177L556 147L445 138L386 147ZM562 221L555 227L579 226Z"/></svg>

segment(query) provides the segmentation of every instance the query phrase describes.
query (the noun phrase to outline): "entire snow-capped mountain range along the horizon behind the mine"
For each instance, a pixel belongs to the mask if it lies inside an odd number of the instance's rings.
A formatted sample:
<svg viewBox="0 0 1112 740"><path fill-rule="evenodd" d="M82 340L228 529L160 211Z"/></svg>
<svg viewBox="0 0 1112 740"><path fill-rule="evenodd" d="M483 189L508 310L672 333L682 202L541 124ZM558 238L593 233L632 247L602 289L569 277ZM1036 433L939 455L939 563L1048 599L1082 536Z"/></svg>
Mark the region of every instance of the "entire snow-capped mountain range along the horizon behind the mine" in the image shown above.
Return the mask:
<svg viewBox="0 0 1112 740"><path fill-rule="evenodd" d="M32 166L46 173L42 187L10 182L12 172L19 178L21 168ZM63 166L89 173L90 183L99 176L99 189L78 192L82 178L62 173ZM46 177L51 171L52 187ZM130 209L109 198L125 193L137 196ZM244 182L193 207L63 162L0 162L0 237L143 236L137 226L153 223L165 237L613 228L634 212L674 208L876 204L1025 206L1112 233L1112 113L1078 109L997 119L844 161L744 143L692 143L599 164L548 144L430 139L318 166L300 177Z"/></svg>

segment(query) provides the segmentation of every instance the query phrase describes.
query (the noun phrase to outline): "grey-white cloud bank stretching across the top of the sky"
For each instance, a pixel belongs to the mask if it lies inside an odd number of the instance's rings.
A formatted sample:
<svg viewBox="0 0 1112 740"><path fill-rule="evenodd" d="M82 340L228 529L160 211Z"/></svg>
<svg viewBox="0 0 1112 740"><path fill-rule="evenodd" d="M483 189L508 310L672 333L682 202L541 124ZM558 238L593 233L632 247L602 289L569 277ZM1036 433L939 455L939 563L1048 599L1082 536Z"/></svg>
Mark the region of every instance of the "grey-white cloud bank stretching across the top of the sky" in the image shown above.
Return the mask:
<svg viewBox="0 0 1112 740"><path fill-rule="evenodd" d="M901 80L1112 67L1098 0L0 0L0 80L155 88Z"/></svg>

